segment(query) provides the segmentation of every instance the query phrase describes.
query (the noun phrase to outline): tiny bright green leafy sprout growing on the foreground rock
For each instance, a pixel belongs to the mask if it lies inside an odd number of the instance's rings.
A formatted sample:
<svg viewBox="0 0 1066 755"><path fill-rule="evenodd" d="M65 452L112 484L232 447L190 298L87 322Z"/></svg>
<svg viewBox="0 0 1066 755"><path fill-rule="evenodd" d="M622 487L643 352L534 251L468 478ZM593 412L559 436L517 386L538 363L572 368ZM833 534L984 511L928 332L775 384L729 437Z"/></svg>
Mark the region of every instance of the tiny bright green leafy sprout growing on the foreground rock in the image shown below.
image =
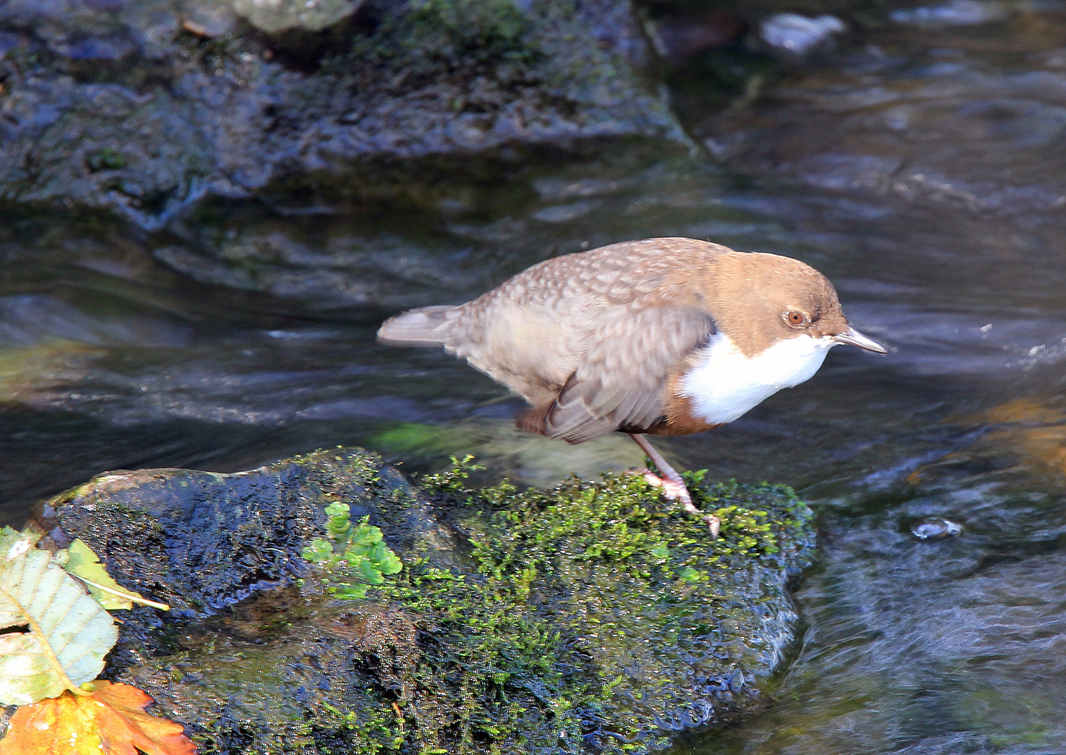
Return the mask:
<svg viewBox="0 0 1066 755"><path fill-rule="evenodd" d="M303 555L330 574L328 589L338 597L362 600L370 588L403 569L382 530L369 523L370 516L353 525L348 504L340 503L329 504L325 513L329 540L316 538Z"/></svg>

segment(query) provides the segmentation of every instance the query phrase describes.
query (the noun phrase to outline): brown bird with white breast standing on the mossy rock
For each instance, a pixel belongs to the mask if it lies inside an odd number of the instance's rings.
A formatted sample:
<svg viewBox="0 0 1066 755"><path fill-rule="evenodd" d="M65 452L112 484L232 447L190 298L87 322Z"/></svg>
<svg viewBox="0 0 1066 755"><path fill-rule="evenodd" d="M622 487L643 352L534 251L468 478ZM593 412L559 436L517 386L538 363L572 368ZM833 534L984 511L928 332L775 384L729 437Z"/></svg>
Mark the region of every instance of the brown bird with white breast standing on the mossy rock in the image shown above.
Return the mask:
<svg viewBox="0 0 1066 755"><path fill-rule="evenodd" d="M730 423L811 378L834 346L886 354L810 265L683 237L545 260L466 303L392 316L377 340L465 359L526 399L523 430L568 443L628 433L659 474L637 472L712 538L717 518L699 511L647 436Z"/></svg>

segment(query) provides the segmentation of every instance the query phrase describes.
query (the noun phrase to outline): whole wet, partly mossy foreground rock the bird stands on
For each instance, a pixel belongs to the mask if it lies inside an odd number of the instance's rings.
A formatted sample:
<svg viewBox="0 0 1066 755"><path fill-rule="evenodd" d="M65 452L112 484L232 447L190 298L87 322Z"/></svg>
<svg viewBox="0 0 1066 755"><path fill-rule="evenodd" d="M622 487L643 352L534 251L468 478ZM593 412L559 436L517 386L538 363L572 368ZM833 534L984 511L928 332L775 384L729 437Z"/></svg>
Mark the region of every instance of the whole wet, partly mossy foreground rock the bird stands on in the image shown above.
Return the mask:
<svg viewBox="0 0 1066 755"><path fill-rule="evenodd" d="M644 752L758 704L812 546L789 489L693 475L712 541L637 477L465 475L420 490L357 449L114 472L43 519L174 606L135 608L106 673L205 753ZM373 554L369 582L304 559L338 531Z"/></svg>

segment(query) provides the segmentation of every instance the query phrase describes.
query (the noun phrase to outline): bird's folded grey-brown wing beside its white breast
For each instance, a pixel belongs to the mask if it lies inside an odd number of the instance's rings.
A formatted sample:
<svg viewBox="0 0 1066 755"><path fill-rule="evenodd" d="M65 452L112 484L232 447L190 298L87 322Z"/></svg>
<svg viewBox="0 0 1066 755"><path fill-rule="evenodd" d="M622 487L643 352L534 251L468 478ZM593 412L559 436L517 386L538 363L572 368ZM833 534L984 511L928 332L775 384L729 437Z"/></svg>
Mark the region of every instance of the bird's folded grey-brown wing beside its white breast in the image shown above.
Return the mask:
<svg viewBox="0 0 1066 755"><path fill-rule="evenodd" d="M671 372L714 332L713 321L695 308L605 310L559 395L520 416L518 426L570 443L651 427L663 415Z"/></svg>

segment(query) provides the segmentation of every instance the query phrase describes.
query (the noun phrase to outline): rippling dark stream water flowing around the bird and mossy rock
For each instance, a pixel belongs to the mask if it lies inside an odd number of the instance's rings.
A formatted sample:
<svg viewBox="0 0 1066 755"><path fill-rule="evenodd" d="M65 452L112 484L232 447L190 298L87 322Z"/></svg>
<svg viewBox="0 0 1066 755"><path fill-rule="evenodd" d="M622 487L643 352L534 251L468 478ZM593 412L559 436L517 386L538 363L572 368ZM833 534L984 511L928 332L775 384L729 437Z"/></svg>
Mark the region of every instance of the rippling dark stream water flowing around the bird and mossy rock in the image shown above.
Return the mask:
<svg viewBox="0 0 1066 755"><path fill-rule="evenodd" d="M296 274L350 253L397 292L383 313L556 253L708 239L809 262L891 347L835 349L737 423L661 442L712 476L796 487L823 546L764 711L678 754L1066 752L1066 5L946 7L969 13L898 14L697 118L688 158L546 168L507 201L414 220L241 220L303 250ZM387 261L367 251L383 245ZM487 477L542 485L639 461L620 438L518 433L502 389L376 345L372 313L180 278L150 256L164 246L7 231L6 521L103 470L230 471L340 443L410 471L473 453ZM962 534L912 538L931 516Z"/></svg>

